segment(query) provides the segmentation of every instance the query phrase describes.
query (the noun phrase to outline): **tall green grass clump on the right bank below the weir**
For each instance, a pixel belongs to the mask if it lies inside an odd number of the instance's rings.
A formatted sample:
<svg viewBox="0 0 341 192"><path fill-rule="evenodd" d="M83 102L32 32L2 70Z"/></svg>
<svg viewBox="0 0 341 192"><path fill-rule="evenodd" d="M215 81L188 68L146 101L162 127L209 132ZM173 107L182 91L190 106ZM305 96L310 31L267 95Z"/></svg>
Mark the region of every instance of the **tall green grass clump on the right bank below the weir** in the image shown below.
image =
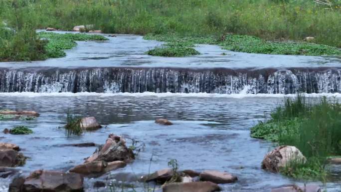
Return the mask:
<svg viewBox="0 0 341 192"><path fill-rule="evenodd" d="M295 178L325 180L327 158L341 155L341 104L326 97L318 103L302 96L287 99L271 119L251 128L251 137L297 147L307 163L293 162L281 172Z"/></svg>

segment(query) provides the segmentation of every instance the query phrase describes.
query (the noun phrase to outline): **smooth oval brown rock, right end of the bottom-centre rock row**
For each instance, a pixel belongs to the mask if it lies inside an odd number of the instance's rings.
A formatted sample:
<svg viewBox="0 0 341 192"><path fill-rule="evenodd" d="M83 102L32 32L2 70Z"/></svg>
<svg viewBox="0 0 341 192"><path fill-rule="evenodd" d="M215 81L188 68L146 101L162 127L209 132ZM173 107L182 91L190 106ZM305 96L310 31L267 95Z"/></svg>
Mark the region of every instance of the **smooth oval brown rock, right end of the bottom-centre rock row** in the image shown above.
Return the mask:
<svg viewBox="0 0 341 192"><path fill-rule="evenodd" d="M238 180L236 176L229 173L212 170L203 171L199 177L200 181L213 182L215 184L234 183Z"/></svg>

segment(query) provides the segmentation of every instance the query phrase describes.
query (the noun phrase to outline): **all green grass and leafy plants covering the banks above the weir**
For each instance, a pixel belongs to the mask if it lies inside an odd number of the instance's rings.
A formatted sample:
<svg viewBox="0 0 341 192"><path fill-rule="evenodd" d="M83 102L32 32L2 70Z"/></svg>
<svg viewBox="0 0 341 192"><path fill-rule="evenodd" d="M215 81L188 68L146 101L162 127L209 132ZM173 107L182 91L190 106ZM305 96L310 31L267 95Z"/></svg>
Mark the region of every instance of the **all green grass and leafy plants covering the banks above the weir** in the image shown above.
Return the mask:
<svg viewBox="0 0 341 192"><path fill-rule="evenodd" d="M234 51L341 55L335 48L341 47L340 0L325 4L314 0L2 0L0 20L16 31L9 35L13 31L0 26L0 60L4 61L62 56L52 45L45 53L47 42L39 40L34 29L71 30L75 25L91 25L106 33L171 33L196 39L195 43L213 39ZM318 44L287 41L307 36L315 37ZM278 39L284 42L274 41ZM71 46L64 42L56 46L64 45Z"/></svg>

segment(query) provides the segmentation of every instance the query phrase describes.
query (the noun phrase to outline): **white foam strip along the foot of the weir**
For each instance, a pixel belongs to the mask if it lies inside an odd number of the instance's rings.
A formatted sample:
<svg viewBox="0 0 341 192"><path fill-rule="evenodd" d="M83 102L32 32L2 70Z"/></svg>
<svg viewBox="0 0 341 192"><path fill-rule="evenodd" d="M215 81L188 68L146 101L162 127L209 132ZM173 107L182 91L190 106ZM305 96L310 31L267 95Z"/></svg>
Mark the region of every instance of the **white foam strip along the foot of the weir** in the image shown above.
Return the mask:
<svg viewBox="0 0 341 192"><path fill-rule="evenodd" d="M341 97L340 93L303 93L305 97ZM217 94L217 93L95 93L95 92L62 92L62 93L34 93L34 92L13 92L0 93L0 97L202 97L202 98L283 98L295 97L296 94Z"/></svg>

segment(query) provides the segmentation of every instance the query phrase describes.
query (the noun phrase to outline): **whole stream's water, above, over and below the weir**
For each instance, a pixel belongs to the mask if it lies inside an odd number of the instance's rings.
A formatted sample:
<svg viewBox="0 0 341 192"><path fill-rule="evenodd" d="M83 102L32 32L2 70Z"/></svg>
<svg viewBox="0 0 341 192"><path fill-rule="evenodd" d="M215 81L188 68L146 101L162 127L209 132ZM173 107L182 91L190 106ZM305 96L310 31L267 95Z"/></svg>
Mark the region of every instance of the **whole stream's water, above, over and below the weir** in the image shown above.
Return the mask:
<svg viewBox="0 0 341 192"><path fill-rule="evenodd" d="M136 178L167 168L171 159L180 169L236 175L238 182L221 185L225 192L269 192L272 187L300 183L260 169L274 146L250 138L249 129L269 117L283 94L305 92L339 99L340 58L235 53L213 45L199 45L196 48L203 54L195 57L151 57L144 51L162 42L131 35L109 38L79 42L60 59L0 63L0 110L40 113L32 121L0 122L1 130L26 125L34 131L25 136L0 134L1 142L19 145L30 157L18 168L22 174L37 169L67 171L96 147L63 144L103 144L115 133L139 140L145 148L126 168L86 179L86 191L97 191L93 183L107 177L142 191ZM68 137L59 128L66 123L68 110L94 116L104 127ZM157 125L156 118L168 118L174 125ZM10 180L0 179L0 191L7 191ZM325 188L338 191L340 184L328 183Z"/></svg>

